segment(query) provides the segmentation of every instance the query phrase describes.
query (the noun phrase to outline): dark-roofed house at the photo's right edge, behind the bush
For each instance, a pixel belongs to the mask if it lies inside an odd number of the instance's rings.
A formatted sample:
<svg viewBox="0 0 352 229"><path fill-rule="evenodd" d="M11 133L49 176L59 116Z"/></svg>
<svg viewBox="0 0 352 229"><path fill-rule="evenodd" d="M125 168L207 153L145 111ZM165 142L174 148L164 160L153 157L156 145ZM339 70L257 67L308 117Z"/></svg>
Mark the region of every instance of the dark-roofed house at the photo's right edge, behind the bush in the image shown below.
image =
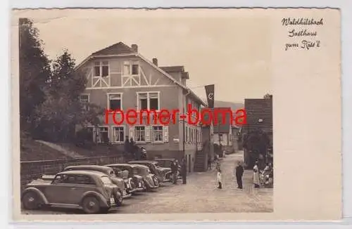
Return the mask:
<svg viewBox="0 0 352 229"><path fill-rule="evenodd" d="M269 148L272 152L272 96L265 98L245 99L244 107L246 109L247 123L241 128L241 135L245 139L246 136L251 136L251 133L265 133L269 138ZM249 150L244 148L245 163L249 166L253 164ZM271 153L270 153L271 155Z"/></svg>

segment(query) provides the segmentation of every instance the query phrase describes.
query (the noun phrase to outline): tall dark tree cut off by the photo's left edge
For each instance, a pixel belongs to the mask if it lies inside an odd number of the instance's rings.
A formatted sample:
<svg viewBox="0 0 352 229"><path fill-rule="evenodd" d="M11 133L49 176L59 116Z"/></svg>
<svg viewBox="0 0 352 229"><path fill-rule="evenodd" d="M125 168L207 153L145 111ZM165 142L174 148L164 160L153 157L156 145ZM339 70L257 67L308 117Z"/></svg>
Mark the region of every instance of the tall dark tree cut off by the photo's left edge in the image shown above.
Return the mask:
<svg viewBox="0 0 352 229"><path fill-rule="evenodd" d="M50 61L31 20L19 19L19 36L20 129L31 133L34 111L45 100L44 90L51 76Z"/></svg>

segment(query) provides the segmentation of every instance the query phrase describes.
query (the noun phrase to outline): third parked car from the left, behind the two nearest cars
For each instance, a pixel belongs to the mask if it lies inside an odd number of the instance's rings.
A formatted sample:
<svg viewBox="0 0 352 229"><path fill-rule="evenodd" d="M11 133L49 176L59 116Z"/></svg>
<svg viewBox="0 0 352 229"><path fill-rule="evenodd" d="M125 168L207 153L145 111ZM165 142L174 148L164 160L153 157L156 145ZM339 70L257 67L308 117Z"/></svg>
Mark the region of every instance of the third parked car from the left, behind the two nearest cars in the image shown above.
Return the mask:
<svg viewBox="0 0 352 229"><path fill-rule="evenodd" d="M138 184L138 187L142 188L144 191L153 190L159 187L158 178L151 174L148 166L142 164L108 164L106 166L115 169L115 171L129 171L130 176L138 178L138 180L135 179L134 181L142 181L142 183L140 182Z"/></svg>

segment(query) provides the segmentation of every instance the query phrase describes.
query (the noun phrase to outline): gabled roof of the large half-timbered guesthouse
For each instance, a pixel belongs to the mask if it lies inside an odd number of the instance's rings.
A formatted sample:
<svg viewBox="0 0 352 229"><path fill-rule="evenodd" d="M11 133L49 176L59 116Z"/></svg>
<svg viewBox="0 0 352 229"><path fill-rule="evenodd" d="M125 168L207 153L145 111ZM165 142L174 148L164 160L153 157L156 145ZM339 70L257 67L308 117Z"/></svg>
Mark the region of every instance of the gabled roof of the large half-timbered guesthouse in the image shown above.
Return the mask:
<svg viewBox="0 0 352 229"><path fill-rule="evenodd" d="M99 51L96 51L96 52L92 53L87 58L85 58L82 61L82 63L77 65L77 67L75 67L75 70L78 70L80 67L82 67L82 65L84 65L84 63L87 63L87 61L89 61L89 60L91 60L93 58L102 57L104 55L108 56L108 57L119 57L119 56L129 56L129 55L133 55L135 57L139 57L142 60L144 60L146 63L149 63L149 65L154 67L156 70L158 70L159 72L164 74L165 77L168 77L170 80L172 80L172 82L174 84L177 84L177 86L180 86L180 87L182 87L182 89L184 89L185 91L189 92L192 96L194 96L194 98L199 100L199 102L201 102L202 105L207 106L207 104L201 98L199 98L199 96L197 96L196 93L191 91L191 89L189 89L187 86L184 86L183 84L178 82L175 78L173 78L170 74L168 74L168 72L165 72L165 70L161 69L161 67L158 67L158 66L154 65L153 62L151 62L150 60L144 58L144 56L142 56L141 54L134 52L134 50L132 48L130 48L130 46L127 46L126 44L124 44L122 42L118 42L116 44L113 44L112 46L108 46L107 48L103 48L103 49L101 49ZM175 69L178 68L179 70L180 70L180 67L183 67L183 66L174 66Z"/></svg>

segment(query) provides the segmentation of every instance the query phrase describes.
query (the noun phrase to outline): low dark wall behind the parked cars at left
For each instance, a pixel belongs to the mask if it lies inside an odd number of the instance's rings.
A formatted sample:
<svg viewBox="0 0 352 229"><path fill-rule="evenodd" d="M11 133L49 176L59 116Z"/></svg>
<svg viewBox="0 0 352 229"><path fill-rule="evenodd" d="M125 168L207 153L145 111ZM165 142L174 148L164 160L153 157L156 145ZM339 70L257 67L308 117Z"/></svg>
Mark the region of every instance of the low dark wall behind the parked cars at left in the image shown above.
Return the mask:
<svg viewBox="0 0 352 229"><path fill-rule="evenodd" d="M125 162L125 157L122 155L20 162L21 190L23 190L27 183L40 178L43 174L57 174L58 172L63 171L66 166L84 164L103 165L123 162Z"/></svg>

